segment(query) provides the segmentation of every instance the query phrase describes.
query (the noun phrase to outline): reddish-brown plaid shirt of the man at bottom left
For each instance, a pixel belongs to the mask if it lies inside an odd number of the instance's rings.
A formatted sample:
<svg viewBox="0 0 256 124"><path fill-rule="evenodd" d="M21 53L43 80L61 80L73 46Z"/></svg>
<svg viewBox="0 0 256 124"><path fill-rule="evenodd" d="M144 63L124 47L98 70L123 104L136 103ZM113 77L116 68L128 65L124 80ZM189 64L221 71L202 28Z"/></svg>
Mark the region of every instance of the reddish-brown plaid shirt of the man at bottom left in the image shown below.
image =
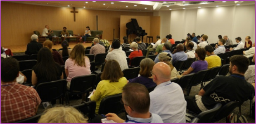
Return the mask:
<svg viewBox="0 0 256 124"><path fill-rule="evenodd" d="M16 82L1 85L1 123L15 122L36 115L41 99L33 87Z"/></svg>

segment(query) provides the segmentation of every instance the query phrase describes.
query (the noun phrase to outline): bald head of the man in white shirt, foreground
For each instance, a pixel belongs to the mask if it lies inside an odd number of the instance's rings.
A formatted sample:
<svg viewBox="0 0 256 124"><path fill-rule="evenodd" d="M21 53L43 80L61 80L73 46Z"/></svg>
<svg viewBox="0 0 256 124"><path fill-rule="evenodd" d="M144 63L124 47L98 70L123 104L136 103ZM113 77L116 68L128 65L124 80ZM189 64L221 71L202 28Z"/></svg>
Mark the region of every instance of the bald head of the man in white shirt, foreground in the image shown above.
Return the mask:
<svg viewBox="0 0 256 124"><path fill-rule="evenodd" d="M164 62L158 62L154 65L153 69L153 81L159 85L171 79L171 68Z"/></svg>

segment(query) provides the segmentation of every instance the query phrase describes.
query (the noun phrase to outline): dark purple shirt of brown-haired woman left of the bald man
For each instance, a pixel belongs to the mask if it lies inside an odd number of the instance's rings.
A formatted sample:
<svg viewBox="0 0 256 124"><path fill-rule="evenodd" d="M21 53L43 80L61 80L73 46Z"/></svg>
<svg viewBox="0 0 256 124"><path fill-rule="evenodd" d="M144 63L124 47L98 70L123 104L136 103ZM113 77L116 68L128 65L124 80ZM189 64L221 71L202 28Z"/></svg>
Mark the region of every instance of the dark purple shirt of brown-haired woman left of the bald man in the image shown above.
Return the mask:
<svg viewBox="0 0 256 124"><path fill-rule="evenodd" d="M140 76L129 80L129 83L140 83L145 85L147 88L156 86L152 78Z"/></svg>

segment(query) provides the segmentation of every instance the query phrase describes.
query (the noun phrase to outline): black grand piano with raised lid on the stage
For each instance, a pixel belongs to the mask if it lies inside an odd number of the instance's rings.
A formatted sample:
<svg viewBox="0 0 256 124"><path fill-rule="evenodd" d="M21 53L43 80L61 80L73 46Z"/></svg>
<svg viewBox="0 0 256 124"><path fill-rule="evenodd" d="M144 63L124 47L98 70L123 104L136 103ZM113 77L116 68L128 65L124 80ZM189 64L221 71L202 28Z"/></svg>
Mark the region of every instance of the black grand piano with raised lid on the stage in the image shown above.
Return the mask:
<svg viewBox="0 0 256 124"><path fill-rule="evenodd" d="M131 18L131 22L126 23L126 35L127 37L130 34L136 34L138 37L142 37L141 41L143 42L143 37L145 35L147 35L147 33L145 32L145 30L142 30L142 28L139 26L137 19L136 18Z"/></svg>

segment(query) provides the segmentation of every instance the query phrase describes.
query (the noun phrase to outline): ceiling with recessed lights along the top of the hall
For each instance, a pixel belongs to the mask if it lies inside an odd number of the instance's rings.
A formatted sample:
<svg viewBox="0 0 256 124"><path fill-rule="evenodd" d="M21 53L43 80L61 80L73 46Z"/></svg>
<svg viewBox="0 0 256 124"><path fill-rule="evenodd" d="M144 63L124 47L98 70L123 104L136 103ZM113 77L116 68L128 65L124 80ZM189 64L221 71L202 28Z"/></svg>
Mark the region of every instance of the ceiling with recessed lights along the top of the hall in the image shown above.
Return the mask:
<svg viewBox="0 0 256 124"><path fill-rule="evenodd" d="M5 2L16 2L22 4L31 4L31 5L43 5L43 6L53 6L53 7L76 7L76 8L84 8L84 9L102 9L102 10L117 10L117 11L156 11L153 9L153 5L142 5L135 4L126 1L5 1ZM86 3L88 2L88 3ZM114 2L114 4L111 4ZM138 1L142 2L142 1ZM207 8L207 7L223 7L223 6L236 6L234 1L214 1L213 3L207 4L196 4L196 5L183 5L183 1L149 1L150 3L154 2L176 2L175 5L171 5L169 7L162 6L160 11L170 11L171 10L179 10L179 9L197 9L198 7ZM200 1L185 1L188 2L200 2ZM104 5L105 4L105 5ZM136 7L134 5L137 5ZM240 4L242 5L255 5L255 1L244 1ZM128 7L126 7L128 6ZM147 8L147 9L145 9Z"/></svg>

